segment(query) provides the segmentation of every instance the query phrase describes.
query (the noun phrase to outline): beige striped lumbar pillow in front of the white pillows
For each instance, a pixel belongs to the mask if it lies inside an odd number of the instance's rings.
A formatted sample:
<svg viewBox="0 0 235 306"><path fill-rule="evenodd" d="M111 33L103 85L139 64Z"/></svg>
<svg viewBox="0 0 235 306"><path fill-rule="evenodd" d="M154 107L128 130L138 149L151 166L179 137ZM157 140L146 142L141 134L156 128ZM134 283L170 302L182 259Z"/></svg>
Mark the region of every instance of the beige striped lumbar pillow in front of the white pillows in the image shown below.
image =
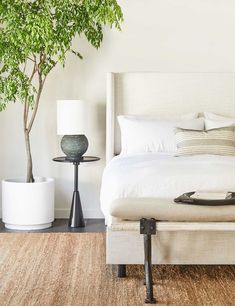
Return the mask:
<svg viewBox="0 0 235 306"><path fill-rule="evenodd" d="M235 155L235 126L196 131L175 128L176 156Z"/></svg>

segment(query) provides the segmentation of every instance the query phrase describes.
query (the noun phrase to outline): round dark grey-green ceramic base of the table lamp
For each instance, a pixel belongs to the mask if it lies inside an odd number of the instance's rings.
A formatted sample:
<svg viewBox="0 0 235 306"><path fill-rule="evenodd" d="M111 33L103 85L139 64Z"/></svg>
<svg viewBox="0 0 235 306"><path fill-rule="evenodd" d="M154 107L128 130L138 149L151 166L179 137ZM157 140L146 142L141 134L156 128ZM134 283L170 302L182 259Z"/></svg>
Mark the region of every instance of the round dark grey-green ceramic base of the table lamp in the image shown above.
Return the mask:
<svg viewBox="0 0 235 306"><path fill-rule="evenodd" d="M79 159L86 153L88 140L85 135L64 135L61 149L69 159Z"/></svg>

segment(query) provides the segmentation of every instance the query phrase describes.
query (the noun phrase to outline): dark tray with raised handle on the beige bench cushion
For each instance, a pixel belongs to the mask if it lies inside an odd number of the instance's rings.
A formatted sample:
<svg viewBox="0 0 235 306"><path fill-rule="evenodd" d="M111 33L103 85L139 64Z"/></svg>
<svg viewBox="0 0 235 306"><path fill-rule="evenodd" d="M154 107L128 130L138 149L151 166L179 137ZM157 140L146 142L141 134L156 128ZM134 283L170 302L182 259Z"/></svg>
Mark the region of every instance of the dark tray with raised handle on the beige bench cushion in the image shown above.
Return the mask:
<svg viewBox="0 0 235 306"><path fill-rule="evenodd" d="M208 206L219 206L219 205L235 205L235 192L230 192L229 197L222 200L209 200L209 199L193 199L195 191L183 193L181 196L174 199L177 204L191 204L191 205L208 205Z"/></svg>

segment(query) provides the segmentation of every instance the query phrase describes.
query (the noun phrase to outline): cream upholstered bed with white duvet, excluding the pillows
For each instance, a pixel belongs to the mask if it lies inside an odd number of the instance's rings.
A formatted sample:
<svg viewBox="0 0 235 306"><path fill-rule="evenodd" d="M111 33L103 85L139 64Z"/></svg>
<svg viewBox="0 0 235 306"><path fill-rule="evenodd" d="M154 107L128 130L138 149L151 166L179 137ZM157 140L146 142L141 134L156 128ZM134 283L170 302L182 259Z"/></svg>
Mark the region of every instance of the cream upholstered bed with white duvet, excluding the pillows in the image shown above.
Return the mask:
<svg viewBox="0 0 235 306"><path fill-rule="evenodd" d="M115 201L123 199L125 205L135 209L138 199L142 205L148 205L154 198L173 199L197 189L235 190L235 157L203 155L177 159L161 153L119 155L117 115L161 118L203 111L235 117L235 73L108 74L107 166L101 188L101 208L107 225L107 264L144 261L139 220L130 215L111 216L110 207L113 209ZM234 264L235 208L216 209L212 217L210 211L205 212L207 218L202 211L198 214L201 219L179 219L173 214L168 220L166 217L159 220L152 241L152 262Z"/></svg>

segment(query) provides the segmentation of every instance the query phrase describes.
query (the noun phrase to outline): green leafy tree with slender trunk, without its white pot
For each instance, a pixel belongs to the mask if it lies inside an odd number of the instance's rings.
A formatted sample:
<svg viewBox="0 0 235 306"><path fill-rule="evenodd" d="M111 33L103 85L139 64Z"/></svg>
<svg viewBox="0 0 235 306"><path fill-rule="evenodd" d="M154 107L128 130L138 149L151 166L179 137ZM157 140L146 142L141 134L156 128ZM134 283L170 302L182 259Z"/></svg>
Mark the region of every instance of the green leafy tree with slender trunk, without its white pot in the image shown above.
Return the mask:
<svg viewBox="0 0 235 306"><path fill-rule="evenodd" d="M122 19L116 0L1 0L0 111L23 104L27 182L34 182L30 132L49 73L69 52L82 59L74 37L99 48L104 27L120 29Z"/></svg>

